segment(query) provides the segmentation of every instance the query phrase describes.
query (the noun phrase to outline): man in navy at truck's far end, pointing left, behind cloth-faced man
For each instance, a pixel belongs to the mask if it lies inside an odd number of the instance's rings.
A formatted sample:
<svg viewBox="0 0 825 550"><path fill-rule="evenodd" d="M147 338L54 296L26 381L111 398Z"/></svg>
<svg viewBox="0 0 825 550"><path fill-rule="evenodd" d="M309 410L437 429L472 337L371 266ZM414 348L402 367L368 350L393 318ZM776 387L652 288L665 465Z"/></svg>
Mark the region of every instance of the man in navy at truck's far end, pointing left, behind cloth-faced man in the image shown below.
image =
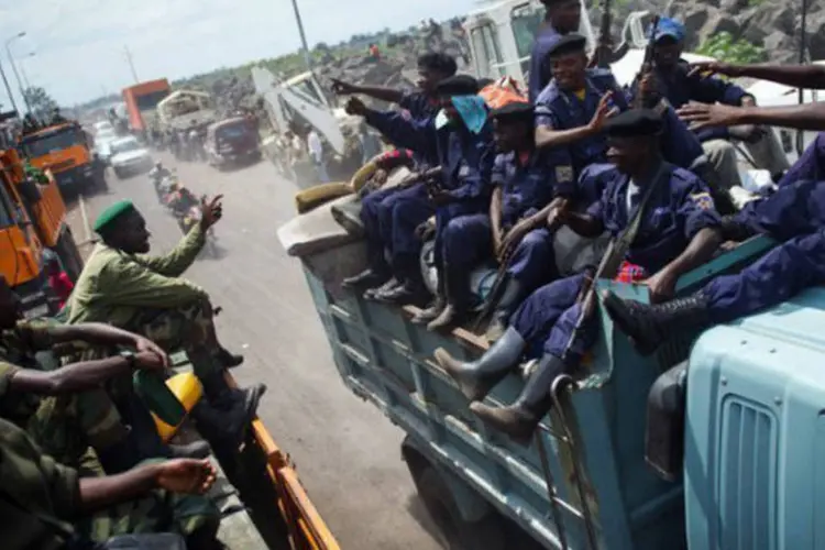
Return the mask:
<svg viewBox="0 0 825 550"><path fill-rule="evenodd" d="M418 58L418 89L403 91L392 88L355 86L341 80L333 79L333 89L339 95L363 94L382 101L397 103L404 114L395 113L411 120L426 121L436 116L440 108L436 85L455 75L455 59L442 53L427 53ZM387 113L388 116L389 113ZM416 170L426 170L431 162L425 155L414 155ZM416 211L426 210L427 193L424 184L413 185L409 188L398 189L388 187L369 194L361 202L361 221L366 233L367 256L370 265L367 270L350 277L343 282L344 286L366 288L371 295L384 296L388 290L397 290L400 282L405 280L408 266L418 265L418 252L414 232L424 219L410 220L402 228L393 226L395 207L402 202L413 202ZM425 218L426 219L426 218ZM398 229L396 231L396 229ZM398 246L394 246L397 244ZM408 245L411 244L411 245ZM387 262L385 251L389 252L391 261ZM400 267L398 273L394 267ZM381 292L372 292L386 284ZM406 298L407 296L397 296Z"/></svg>

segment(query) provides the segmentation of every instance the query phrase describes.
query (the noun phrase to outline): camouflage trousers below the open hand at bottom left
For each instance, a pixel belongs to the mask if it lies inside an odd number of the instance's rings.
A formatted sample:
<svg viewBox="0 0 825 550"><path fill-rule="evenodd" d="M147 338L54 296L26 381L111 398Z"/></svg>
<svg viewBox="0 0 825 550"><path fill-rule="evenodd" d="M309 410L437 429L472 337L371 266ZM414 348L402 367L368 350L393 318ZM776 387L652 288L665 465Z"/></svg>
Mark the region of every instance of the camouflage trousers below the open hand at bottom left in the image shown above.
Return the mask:
<svg viewBox="0 0 825 550"><path fill-rule="evenodd" d="M92 542L106 542L118 535L150 532L213 538L220 518L220 510L206 496L155 490L143 498L99 512L77 527L81 538Z"/></svg>

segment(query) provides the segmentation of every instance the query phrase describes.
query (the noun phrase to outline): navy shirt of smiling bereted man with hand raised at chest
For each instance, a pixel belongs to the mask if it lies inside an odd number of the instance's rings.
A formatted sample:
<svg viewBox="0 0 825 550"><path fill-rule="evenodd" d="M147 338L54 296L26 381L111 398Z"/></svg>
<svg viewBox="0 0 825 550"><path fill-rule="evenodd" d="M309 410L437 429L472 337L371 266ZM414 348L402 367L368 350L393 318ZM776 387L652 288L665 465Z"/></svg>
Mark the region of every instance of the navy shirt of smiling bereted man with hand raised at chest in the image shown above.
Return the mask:
<svg viewBox="0 0 825 550"><path fill-rule="evenodd" d="M571 130L586 125L607 91L614 91L615 107L623 111L627 109L625 95L608 69L587 69L584 100L580 100L572 91L559 89L556 80L551 80L536 100L536 127ZM568 148L578 176L588 164L606 161L607 140L605 135L598 134L571 143Z"/></svg>

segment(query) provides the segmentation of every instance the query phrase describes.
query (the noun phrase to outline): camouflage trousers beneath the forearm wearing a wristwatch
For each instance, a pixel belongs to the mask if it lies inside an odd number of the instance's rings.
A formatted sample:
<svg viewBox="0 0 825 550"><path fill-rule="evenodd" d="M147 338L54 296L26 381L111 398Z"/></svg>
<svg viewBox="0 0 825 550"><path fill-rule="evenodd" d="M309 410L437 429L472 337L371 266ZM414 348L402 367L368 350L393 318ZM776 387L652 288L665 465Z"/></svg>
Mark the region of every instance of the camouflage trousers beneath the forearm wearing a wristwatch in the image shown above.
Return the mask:
<svg viewBox="0 0 825 550"><path fill-rule="evenodd" d="M129 433L103 388L41 399L25 429L45 454L70 466L89 447L105 449Z"/></svg>

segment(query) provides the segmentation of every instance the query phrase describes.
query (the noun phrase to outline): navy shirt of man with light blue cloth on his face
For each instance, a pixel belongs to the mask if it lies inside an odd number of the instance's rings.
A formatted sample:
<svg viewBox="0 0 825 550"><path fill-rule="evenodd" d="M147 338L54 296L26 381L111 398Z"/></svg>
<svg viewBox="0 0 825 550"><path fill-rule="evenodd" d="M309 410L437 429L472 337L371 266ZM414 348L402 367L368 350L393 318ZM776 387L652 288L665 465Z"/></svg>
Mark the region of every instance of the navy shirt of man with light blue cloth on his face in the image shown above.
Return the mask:
<svg viewBox="0 0 825 550"><path fill-rule="evenodd" d="M463 125L436 129L435 118L407 120L398 113L369 111L366 122L396 146L420 153L432 166L441 166L443 189L458 200L483 202L492 193L495 161L493 131L487 122L477 134Z"/></svg>

